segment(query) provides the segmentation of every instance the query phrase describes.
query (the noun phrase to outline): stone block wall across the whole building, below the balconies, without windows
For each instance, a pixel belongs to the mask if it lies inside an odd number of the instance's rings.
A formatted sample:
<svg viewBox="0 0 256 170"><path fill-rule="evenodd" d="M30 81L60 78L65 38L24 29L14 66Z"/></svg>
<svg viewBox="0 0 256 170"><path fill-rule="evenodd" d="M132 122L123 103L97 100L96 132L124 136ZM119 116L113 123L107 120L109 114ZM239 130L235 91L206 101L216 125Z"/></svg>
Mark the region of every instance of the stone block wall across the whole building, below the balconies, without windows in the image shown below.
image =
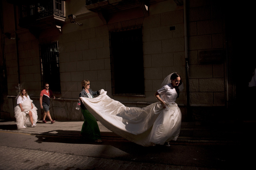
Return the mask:
<svg viewBox="0 0 256 170"><path fill-rule="evenodd" d="M225 48L222 15L212 9L215 7L211 4L189 9L189 91L192 106L221 106L225 102L224 63L198 62L200 51ZM61 95L58 97L65 100L51 102L50 111L55 119L83 119L74 110L83 79L91 82L92 90L104 89L114 100L123 101L127 106L145 107L157 102L154 93L161 88L164 78L177 72L183 80L183 88L176 102L186 105L183 9L149 13L148 17L124 19L108 25L103 25L98 16L79 22L84 26L64 23L62 34L46 29L36 39L28 30L22 29L18 35L20 85L35 97L39 97L42 90L39 44L59 43ZM145 97L112 96L109 31L134 26L142 26ZM170 27L175 27L175 30L170 30ZM17 96L15 40L5 38L5 58L8 95ZM127 83L136 85L132 81Z"/></svg>

